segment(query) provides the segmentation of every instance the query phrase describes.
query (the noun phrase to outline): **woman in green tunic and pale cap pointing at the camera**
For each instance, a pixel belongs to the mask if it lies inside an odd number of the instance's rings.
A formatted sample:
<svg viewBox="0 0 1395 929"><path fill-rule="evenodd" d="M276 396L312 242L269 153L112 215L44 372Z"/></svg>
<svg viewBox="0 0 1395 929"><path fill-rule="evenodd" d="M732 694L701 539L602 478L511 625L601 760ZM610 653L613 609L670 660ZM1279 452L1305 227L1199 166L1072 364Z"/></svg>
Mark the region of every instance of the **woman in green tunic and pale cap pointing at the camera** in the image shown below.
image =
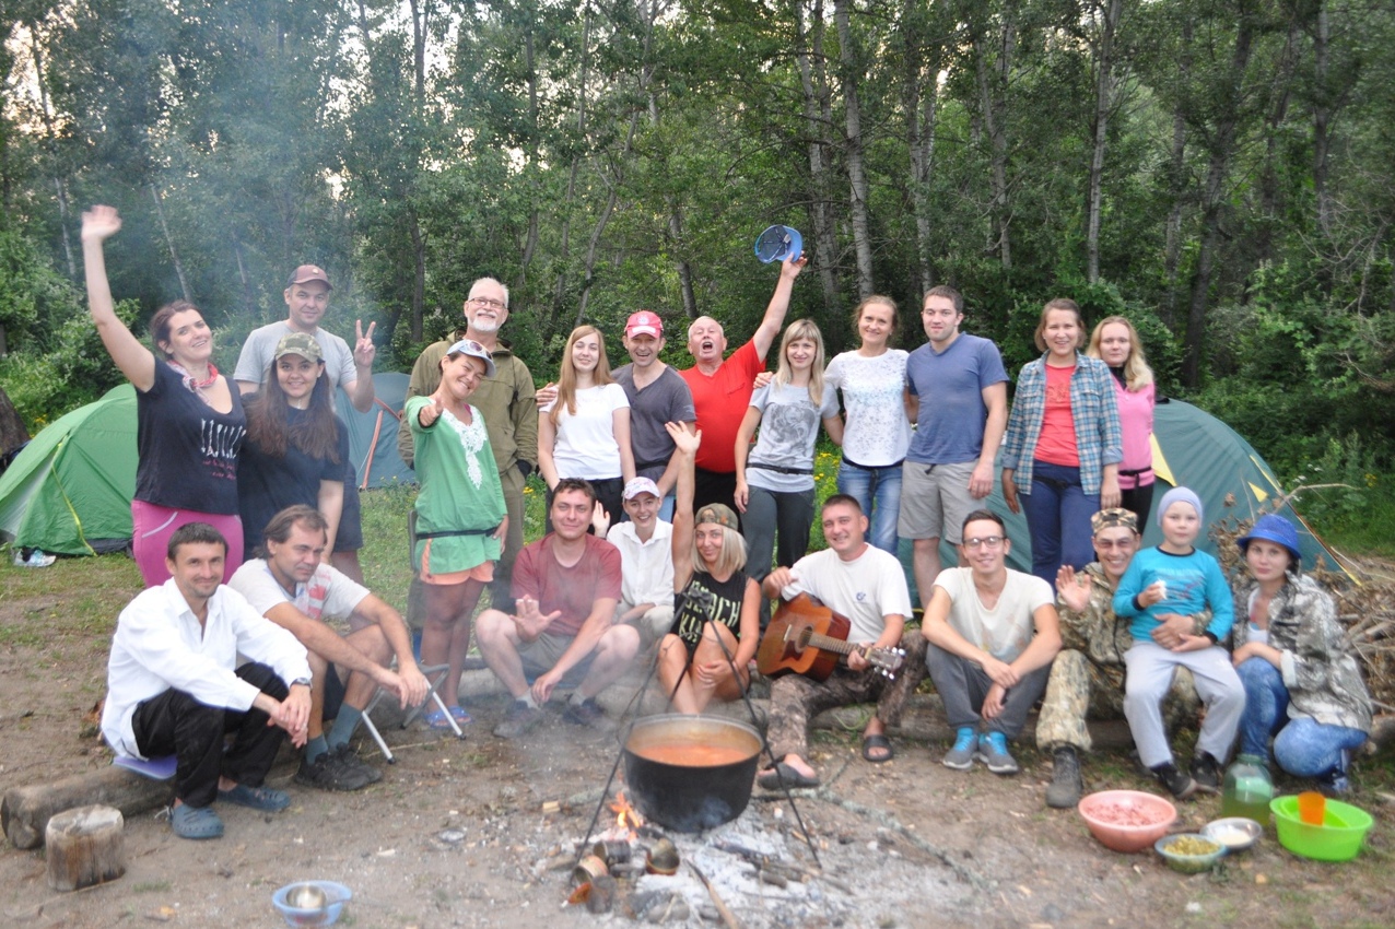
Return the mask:
<svg viewBox="0 0 1395 929"><path fill-rule="evenodd" d="M460 706L460 672L470 651L470 619L509 531L504 485L494 462L484 414L470 406L494 357L474 339L460 339L441 358L441 384L430 396L410 398L403 416L416 448L417 494L413 561L421 577L425 626L421 664L449 665L441 699L456 723L470 723ZM449 728L441 710L427 725Z"/></svg>

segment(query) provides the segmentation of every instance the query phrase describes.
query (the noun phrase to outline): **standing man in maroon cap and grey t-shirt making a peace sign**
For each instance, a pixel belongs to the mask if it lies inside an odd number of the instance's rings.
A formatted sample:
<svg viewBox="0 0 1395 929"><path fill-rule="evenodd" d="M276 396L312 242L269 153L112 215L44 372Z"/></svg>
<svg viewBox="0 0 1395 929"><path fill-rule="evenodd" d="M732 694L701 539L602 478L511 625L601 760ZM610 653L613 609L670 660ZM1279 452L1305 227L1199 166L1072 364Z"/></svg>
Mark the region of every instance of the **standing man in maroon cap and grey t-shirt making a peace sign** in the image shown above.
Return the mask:
<svg viewBox="0 0 1395 929"><path fill-rule="evenodd" d="M329 285L329 276L318 265L300 265L290 273L286 290L282 293L286 300L286 318L252 329L247 342L243 343L241 354L237 356L233 379L237 381L239 391L251 393L261 389L262 382L271 375L276 346L282 338L300 332L319 343L331 391L342 386L349 395L353 409L360 413L372 409L372 360L378 353L372 345L372 331L378 324L370 322L368 331L364 332L363 321L356 319L353 349L339 336L321 329L319 322L329 308L331 290L333 287ZM251 527L252 534L255 534L255 529ZM343 512L339 516L339 533L335 536L335 550L331 559L339 571L361 583L360 548L363 548L363 524L359 505L359 471L353 462L346 459Z"/></svg>

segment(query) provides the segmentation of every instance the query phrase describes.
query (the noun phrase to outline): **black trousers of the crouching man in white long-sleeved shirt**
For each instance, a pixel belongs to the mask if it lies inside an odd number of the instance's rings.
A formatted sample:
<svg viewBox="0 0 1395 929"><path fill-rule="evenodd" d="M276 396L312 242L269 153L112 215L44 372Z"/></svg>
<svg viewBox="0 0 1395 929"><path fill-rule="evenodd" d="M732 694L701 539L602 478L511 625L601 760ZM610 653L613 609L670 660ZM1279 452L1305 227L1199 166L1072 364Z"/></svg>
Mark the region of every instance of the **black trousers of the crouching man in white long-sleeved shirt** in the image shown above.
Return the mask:
<svg viewBox="0 0 1395 929"><path fill-rule="evenodd" d="M286 682L265 664L248 661L237 677L262 693L285 700ZM199 703L183 690L142 700L131 717L135 746L145 757L174 755L174 796L190 806L208 806L218 798L218 778L261 787L286 737L279 725L268 725L261 710L229 710ZM223 752L225 737L233 745Z"/></svg>

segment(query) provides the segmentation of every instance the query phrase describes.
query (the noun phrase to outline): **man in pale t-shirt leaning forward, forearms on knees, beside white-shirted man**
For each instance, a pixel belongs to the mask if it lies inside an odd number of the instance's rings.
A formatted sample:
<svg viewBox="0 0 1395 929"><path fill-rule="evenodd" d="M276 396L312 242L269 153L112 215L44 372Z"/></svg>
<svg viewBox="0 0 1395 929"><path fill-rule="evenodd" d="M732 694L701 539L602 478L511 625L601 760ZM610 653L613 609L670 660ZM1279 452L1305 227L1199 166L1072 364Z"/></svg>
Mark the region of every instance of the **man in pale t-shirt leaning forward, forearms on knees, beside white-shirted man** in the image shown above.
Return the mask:
<svg viewBox="0 0 1395 929"><path fill-rule="evenodd" d="M430 685L412 657L412 636L398 611L324 561L328 527L319 511L287 506L262 531L265 555L244 564L227 583L310 651L310 738L296 783L356 791L382 780L349 748L374 692L391 690L406 709L425 700ZM328 619L347 621L350 632L340 636ZM388 667L393 656L396 671ZM335 721L329 735L325 718Z"/></svg>

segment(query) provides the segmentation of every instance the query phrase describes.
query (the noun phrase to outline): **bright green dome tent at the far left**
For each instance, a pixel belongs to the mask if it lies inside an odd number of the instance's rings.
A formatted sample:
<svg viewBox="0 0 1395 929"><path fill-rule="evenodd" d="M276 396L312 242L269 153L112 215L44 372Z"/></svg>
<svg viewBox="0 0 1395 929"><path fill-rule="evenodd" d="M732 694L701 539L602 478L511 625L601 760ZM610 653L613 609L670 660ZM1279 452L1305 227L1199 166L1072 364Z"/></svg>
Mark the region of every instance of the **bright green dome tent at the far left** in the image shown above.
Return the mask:
<svg viewBox="0 0 1395 929"><path fill-rule="evenodd" d="M135 389L113 388L39 432L0 474L0 538L60 555L131 541Z"/></svg>

